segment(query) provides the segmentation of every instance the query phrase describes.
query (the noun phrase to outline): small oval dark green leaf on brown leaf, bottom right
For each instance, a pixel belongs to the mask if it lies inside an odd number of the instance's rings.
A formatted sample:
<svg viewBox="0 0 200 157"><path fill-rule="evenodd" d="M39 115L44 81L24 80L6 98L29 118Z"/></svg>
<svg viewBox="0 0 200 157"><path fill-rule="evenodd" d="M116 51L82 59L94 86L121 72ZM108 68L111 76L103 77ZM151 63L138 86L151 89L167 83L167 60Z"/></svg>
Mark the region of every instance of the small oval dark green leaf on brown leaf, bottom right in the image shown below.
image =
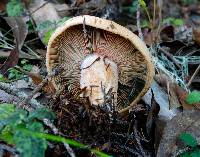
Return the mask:
<svg viewBox="0 0 200 157"><path fill-rule="evenodd" d="M179 138L185 145L190 147L196 147L198 145L197 140L189 133L182 133Z"/></svg>

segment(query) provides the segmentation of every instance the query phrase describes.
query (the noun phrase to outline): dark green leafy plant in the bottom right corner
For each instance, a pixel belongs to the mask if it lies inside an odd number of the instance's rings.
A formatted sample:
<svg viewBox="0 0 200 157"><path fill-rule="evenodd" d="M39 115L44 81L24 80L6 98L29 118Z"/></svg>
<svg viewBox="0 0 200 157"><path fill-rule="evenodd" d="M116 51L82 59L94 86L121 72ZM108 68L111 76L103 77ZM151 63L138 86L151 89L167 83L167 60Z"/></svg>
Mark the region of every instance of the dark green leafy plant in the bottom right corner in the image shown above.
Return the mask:
<svg viewBox="0 0 200 157"><path fill-rule="evenodd" d="M182 133L179 139L191 149L189 151L183 152L179 157L199 157L200 149L198 148L197 139L190 133Z"/></svg>

